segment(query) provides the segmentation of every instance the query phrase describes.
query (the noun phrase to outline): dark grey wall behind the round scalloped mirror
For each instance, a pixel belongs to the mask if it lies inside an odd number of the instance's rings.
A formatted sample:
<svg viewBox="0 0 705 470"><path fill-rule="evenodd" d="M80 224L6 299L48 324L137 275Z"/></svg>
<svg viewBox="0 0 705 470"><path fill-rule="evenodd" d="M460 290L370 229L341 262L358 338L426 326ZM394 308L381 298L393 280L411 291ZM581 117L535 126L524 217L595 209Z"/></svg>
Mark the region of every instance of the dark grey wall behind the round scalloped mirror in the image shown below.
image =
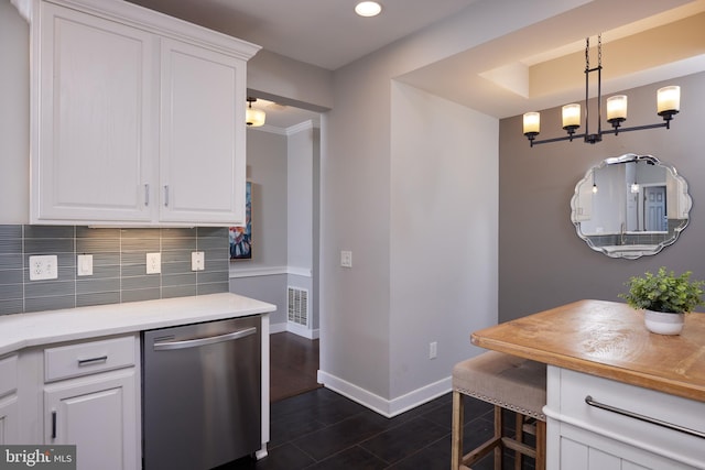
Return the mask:
<svg viewBox="0 0 705 470"><path fill-rule="evenodd" d="M521 116L500 121L499 132L499 319L507 321L545 308L596 298L622 302L617 295L632 275L664 265L705 278L705 73L626 90L625 125L661 120L657 89L681 86L681 112L671 129L606 135L594 145L558 142L529 147ZM560 108L541 112L540 138L561 136ZM593 124L594 125L594 124ZM571 222L575 185L593 165L625 153L651 154L675 166L688 182L693 209L677 242L654 256L628 261L593 251Z"/></svg>

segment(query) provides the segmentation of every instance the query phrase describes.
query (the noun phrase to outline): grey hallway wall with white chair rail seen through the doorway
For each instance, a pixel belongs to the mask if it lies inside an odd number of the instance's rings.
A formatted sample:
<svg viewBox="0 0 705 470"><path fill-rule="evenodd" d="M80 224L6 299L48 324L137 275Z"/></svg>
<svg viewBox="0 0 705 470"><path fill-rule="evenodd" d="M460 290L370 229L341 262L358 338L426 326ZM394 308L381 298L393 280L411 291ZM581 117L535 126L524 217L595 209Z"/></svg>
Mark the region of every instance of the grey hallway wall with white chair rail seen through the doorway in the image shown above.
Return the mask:
<svg viewBox="0 0 705 470"><path fill-rule="evenodd" d="M230 292L276 305L273 331L288 328L288 286L308 289L308 328L318 327L313 277L318 140L319 130L308 124L248 130L252 259L230 262Z"/></svg>

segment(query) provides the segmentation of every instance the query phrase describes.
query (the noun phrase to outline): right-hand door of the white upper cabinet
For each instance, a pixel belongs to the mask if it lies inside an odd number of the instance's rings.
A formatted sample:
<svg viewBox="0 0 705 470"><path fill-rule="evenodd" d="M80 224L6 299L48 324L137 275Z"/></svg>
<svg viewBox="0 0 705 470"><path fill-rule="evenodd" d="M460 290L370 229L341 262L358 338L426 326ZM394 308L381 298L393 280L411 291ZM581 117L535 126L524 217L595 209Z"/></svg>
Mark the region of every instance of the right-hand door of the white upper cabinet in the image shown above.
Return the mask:
<svg viewBox="0 0 705 470"><path fill-rule="evenodd" d="M245 221L246 63L161 41L162 221Z"/></svg>

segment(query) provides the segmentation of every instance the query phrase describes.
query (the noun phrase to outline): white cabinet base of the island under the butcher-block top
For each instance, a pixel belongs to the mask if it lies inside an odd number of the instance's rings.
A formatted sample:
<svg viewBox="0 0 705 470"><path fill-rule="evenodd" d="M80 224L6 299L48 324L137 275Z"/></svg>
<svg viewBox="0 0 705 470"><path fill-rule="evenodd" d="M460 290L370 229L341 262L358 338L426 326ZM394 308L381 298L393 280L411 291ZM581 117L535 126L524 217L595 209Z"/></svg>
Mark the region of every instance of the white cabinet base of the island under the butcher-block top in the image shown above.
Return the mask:
<svg viewBox="0 0 705 470"><path fill-rule="evenodd" d="M547 373L549 470L705 469L705 403L555 367Z"/></svg>

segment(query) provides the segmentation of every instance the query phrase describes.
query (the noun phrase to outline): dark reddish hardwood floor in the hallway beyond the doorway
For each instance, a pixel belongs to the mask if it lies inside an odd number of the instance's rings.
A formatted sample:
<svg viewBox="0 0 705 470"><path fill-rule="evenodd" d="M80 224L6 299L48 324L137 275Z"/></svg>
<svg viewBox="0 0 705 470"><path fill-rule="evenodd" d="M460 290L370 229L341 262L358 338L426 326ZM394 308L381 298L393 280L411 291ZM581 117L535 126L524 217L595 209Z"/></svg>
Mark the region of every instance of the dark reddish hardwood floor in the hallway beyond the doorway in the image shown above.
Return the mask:
<svg viewBox="0 0 705 470"><path fill-rule="evenodd" d="M310 392L321 386L318 373L318 340L292 332L270 336L270 402Z"/></svg>

